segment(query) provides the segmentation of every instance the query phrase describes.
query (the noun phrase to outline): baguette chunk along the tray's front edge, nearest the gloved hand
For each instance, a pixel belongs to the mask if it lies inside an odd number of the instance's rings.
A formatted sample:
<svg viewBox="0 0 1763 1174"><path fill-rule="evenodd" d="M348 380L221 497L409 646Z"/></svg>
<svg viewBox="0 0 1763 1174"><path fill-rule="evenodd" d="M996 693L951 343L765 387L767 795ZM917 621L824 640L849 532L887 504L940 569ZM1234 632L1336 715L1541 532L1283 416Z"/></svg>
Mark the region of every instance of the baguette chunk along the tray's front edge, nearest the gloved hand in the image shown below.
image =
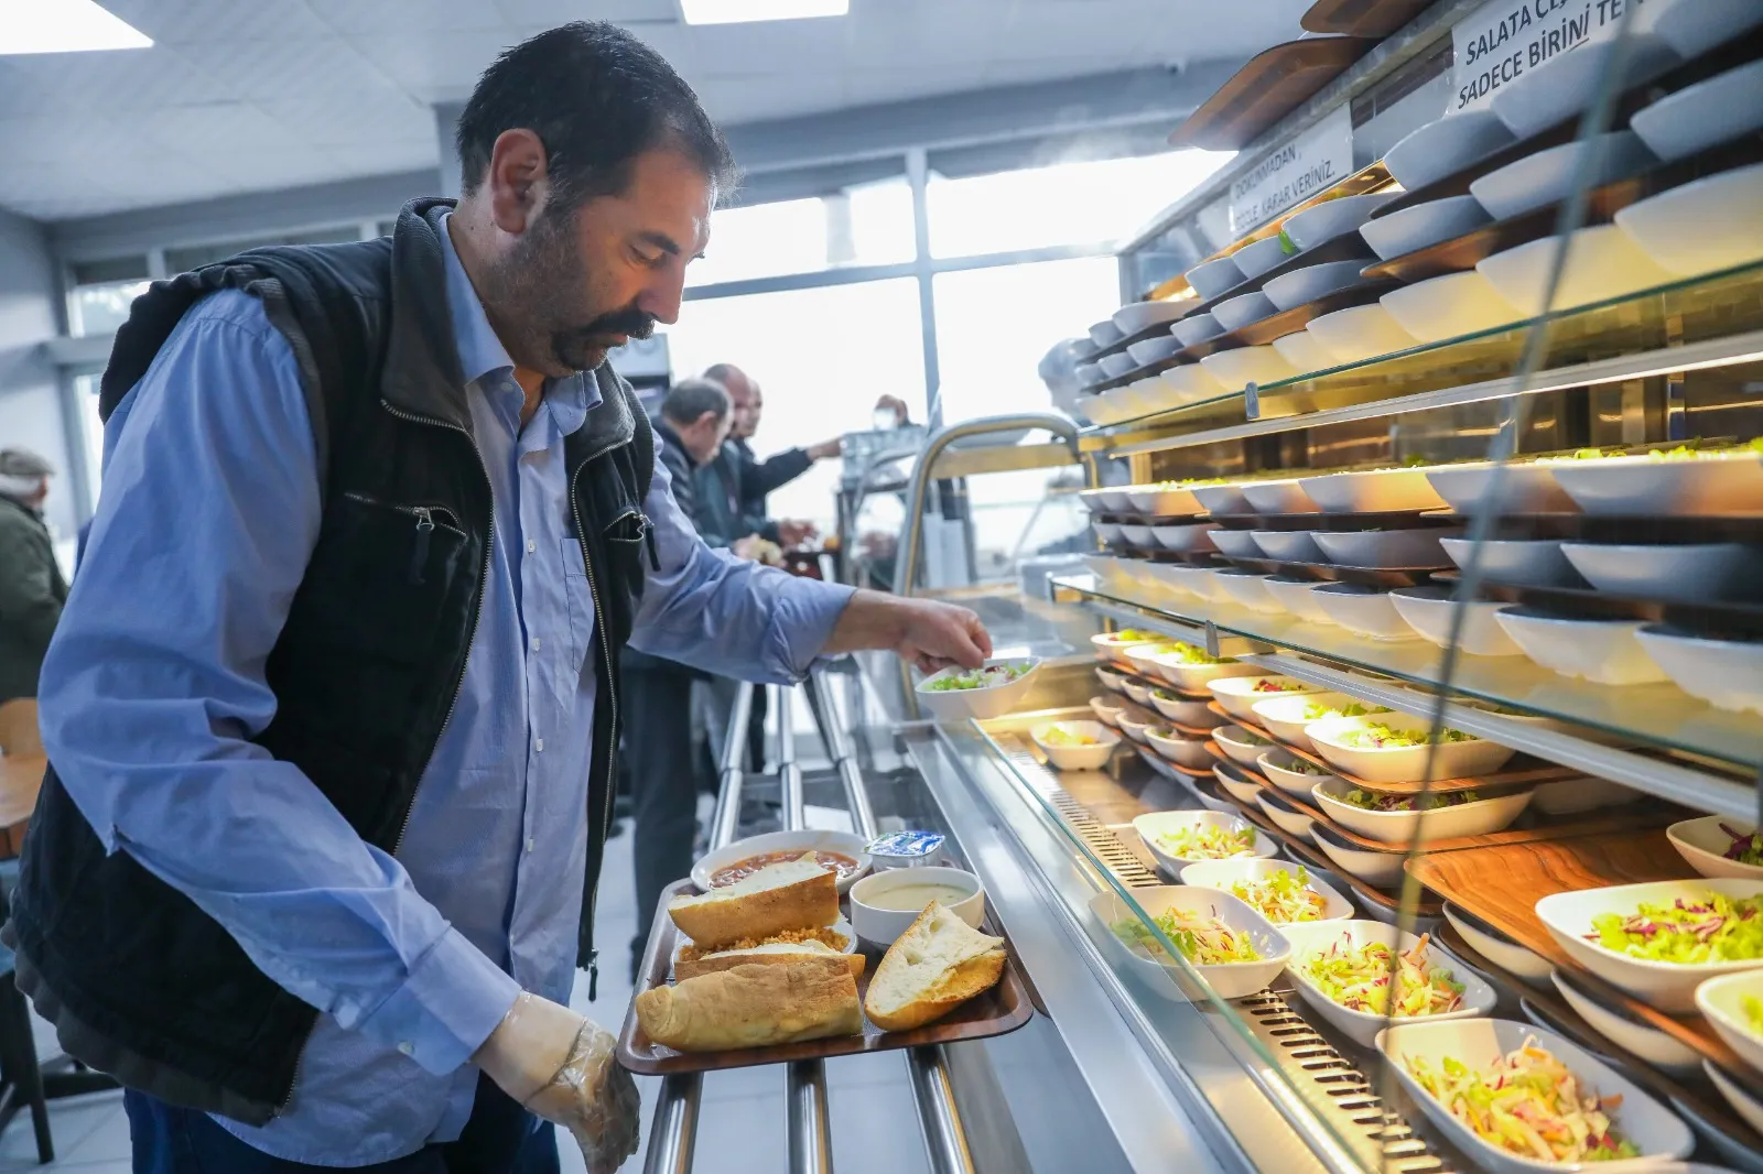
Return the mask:
<svg viewBox="0 0 1763 1174"><path fill-rule="evenodd" d="M844 957L746 964L636 996L636 1022L679 1052L719 1052L864 1029Z"/></svg>

